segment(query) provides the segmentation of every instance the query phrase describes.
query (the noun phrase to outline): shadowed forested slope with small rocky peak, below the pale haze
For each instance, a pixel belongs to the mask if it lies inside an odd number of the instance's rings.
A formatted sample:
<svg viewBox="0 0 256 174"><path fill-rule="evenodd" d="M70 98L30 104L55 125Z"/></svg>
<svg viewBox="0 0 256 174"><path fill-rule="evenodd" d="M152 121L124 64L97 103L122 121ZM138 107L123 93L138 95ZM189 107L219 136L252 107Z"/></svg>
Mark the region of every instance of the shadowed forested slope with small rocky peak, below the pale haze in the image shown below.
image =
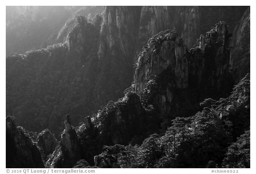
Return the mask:
<svg viewBox="0 0 256 174"><path fill-rule="evenodd" d="M56 123L64 113L75 114L79 121L94 107L100 27L87 23L83 16L75 21L68 43L6 58L7 114L16 116L24 128L49 128L57 135L61 129Z"/></svg>

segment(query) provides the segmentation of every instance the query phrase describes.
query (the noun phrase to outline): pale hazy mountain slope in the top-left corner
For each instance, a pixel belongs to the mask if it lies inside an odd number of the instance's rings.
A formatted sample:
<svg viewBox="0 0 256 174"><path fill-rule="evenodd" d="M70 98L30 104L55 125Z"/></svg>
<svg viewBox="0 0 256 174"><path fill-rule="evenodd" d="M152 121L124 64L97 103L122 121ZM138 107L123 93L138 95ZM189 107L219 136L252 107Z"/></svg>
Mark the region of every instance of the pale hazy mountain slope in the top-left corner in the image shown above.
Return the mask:
<svg viewBox="0 0 256 174"><path fill-rule="evenodd" d="M6 6L6 53L24 53L56 42L58 33L73 15L92 19L102 6Z"/></svg>

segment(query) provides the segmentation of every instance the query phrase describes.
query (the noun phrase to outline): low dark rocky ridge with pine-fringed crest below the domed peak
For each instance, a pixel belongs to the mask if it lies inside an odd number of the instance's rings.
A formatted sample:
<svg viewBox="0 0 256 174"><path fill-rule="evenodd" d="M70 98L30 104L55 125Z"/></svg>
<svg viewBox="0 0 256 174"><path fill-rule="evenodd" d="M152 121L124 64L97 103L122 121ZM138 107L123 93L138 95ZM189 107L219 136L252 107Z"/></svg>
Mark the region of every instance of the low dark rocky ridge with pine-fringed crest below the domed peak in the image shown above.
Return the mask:
<svg viewBox="0 0 256 174"><path fill-rule="evenodd" d="M93 157L102 152L104 145L141 143L144 137L159 128L156 117L142 106L140 97L128 89L125 97L115 103L108 102L97 115L86 117L84 124L76 129L81 159L90 165L97 162L96 166L111 167L112 160L109 163L101 156L93 161Z"/></svg>

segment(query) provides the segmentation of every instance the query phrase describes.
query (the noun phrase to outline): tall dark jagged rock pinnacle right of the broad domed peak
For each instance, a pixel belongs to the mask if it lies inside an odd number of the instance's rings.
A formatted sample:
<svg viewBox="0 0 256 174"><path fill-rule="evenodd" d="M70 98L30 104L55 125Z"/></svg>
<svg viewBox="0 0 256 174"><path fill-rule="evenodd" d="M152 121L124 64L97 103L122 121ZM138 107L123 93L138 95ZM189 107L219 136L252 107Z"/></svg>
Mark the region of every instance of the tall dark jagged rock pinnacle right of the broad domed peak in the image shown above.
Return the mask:
<svg viewBox="0 0 256 174"><path fill-rule="evenodd" d="M216 86L218 92L233 85L231 72L229 71L230 39L231 35L228 33L227 23L224 22L218 23L215 28L207 33L205 38L206 49L204 50L204 58L212 61L213 64L210 65L205 60L204 72L212 74L208 77L211 79L209 82ZM209 71L208 68L211 67L212 70ZM227 83L228 81L230 81L230 84Z"/></svg>

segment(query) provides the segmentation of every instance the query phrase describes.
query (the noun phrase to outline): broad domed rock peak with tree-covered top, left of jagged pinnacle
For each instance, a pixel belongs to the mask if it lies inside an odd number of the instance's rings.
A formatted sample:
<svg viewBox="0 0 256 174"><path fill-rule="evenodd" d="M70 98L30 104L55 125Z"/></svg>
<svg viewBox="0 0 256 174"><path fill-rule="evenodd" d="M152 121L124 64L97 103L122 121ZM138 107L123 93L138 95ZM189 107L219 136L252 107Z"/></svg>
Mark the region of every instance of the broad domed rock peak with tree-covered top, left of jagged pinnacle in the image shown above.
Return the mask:
<svg viewBox="0 0 256 174"><path fill-rule="evenodd" d="M153 36L137 61L134 75L136 91L141 93L146 87L148 78L159 75L168 66L172 69L177 85L188 87L188 54L183 40L177 37L176 31L167 30Z"/></svg>

